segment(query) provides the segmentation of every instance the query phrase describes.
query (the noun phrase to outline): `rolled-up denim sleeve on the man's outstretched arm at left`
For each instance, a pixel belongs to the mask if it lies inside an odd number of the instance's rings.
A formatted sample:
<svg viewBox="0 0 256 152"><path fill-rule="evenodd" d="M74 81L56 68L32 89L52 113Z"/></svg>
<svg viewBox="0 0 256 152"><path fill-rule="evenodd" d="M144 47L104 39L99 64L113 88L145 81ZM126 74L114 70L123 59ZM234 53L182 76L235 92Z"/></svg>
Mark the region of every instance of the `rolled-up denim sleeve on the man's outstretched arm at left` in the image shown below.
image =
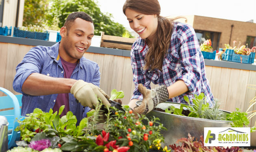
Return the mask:
<svg viewBox="0 0 256 152"><path fill-rule="evenodd" d="M16 74L13 80L13 89L19 93L22 92L22 85L28 76L32 73L41 71L43 59L45 59L46 51L43 51L40 46L30 49L24 56L21 63L16 67Z"/></svg>

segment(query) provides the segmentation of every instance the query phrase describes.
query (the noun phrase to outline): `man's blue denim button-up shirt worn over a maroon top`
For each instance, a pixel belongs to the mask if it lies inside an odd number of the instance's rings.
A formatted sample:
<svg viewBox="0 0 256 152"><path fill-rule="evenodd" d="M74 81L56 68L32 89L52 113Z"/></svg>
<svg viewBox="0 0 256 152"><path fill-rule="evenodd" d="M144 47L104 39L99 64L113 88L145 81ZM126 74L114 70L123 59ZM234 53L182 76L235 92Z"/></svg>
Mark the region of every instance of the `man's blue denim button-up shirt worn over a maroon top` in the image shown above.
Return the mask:
<svg viewBox="0 0 256 152"><path fill-rule="evenodd" d="M16 67L16 75L13 81L13 89L22 93L21 114L25 116L33 112L35 108L40 108L44 112L49 112L54 107L58 94L31 96L22 92L22 85L26 78L32 73L40 73L55 78L64 78L63 67L59 57L59 42L53 46L36 46L24 56L23 60ZM100 71L97 63L82 57L72 73L72 79L84 80L96 86L100 85ZM76 116L78 123L83 116L91 110L76 103L73 94L69 93L69 110Z"/></svg>

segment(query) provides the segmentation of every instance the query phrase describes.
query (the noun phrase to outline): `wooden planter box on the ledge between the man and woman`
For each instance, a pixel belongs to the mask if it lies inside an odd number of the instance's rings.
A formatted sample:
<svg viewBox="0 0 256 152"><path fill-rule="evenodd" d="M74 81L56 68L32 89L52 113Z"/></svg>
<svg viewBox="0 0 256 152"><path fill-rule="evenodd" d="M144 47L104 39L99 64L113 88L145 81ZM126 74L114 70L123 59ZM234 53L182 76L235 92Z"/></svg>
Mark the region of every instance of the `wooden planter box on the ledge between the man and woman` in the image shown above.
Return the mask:
<svg viewBox="0 0 256 152"><path fill-rule="evenodd" d="M132 44L137 38L124 38L121 36L110 36L101 33L100 47L131 50Z"/></svg>

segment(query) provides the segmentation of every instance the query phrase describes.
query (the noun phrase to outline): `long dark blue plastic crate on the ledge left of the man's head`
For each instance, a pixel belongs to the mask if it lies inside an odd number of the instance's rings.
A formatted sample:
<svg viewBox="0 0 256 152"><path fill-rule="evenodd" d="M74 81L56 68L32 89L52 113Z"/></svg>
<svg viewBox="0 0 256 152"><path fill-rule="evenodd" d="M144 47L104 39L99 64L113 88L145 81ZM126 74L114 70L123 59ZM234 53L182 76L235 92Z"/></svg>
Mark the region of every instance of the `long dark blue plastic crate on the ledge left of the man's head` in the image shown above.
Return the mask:
<svg viewBox="0 0 256 152"><path fill-rule="evenodd" d="M37 39L37 40L49 40L49 32L30 32L30 31L24 31L19 30L19 28L14 27L13 28L13 36L14 37L20 37L20 38L31 38L31 39Z"/></svg>

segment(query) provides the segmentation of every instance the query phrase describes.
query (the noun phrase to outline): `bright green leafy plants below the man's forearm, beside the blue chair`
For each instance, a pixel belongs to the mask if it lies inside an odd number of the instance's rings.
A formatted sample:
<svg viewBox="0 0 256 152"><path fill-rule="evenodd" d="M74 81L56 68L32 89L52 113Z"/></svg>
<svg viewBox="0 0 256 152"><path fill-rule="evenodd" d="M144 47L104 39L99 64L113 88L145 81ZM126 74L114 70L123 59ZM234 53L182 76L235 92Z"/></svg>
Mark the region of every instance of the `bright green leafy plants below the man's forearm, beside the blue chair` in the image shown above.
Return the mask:
<svg viewBox="0 0 256 152"><path fill-rule="evenodd" d="M26 114L24 120L18 120L20 125L15 131L20 131L22 140L30 141L37 132L47 132L49 135L58 135L59 137L65 135L72 135L78 137L82 135L82 129L87 126L88 118L83 118L78 126L76 126L76 116L72 112L67 112L67 115L60 118L63 112L64 105L60 107L59 113L43 112L39 108L35 108L33 113Z"/></svg>

